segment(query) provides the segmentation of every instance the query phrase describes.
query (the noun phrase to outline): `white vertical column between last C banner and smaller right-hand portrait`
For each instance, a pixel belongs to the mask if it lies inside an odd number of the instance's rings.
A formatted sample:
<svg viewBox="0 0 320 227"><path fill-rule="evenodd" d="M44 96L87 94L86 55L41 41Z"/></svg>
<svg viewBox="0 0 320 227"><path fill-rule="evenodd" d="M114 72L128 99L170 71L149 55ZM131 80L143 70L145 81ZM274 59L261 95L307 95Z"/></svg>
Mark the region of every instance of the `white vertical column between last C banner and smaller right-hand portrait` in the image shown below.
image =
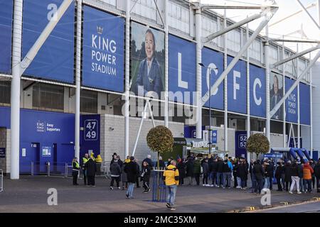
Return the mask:
<svg viewBox="0 0 320 227"><path fill-rule="evenodd" d="M265 121L265 134L270 141L270 56L269 56L269 28L268 24L265 26L265 33L267 40L265 41L265 94L266 94L266 121Z"/></svg>

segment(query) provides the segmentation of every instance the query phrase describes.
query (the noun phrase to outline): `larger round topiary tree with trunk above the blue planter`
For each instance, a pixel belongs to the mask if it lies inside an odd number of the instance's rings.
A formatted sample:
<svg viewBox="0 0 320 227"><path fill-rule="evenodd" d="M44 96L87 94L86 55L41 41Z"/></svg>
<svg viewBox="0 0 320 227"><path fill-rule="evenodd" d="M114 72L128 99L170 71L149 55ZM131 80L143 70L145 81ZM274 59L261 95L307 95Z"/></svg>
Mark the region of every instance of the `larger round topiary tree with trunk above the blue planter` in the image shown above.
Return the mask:
<svg viewBox="0 0 320 227"><path fill-rule="evenodd" d="M165 126L156 126L151 128L146 135L146 144L148 147L158 153L158 167L160 153L172 152L174 146L174 135L169 128Z"/></svg>

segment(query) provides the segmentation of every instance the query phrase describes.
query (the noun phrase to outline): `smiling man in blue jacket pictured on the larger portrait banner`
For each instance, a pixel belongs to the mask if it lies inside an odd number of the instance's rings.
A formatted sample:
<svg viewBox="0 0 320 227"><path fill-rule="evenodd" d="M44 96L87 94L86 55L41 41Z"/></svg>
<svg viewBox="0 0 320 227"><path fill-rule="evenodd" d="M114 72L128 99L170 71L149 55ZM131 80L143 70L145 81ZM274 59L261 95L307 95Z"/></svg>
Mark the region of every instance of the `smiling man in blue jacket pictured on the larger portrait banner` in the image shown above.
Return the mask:
<svg viewBox="0 0 320 227"><path fill-rule="evenodd" d="M146 31L144 40L144 50L146 52L146 58L140 62L139 73L137 75L137 81L135 85L136 94L145 95L146 92L153 91L161 99L161 92L163 90L163 85L161 81L161 67L159 62L156 60L156 39L154 33L148 29Z"/></svg>

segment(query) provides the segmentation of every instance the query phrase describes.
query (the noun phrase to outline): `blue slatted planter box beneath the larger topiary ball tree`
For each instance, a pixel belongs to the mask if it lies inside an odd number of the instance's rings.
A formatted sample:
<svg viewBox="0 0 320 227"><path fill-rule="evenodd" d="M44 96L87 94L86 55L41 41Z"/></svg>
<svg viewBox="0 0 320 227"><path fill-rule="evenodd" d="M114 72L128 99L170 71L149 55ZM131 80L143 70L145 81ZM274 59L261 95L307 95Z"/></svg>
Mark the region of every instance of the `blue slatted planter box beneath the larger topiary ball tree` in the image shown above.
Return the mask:
<svg viewBox="0 0 320 227"><path fill-rule="evenodd" d="M152 201L166 202L166 184L164 184L164 170L152 170Z"/></svg>

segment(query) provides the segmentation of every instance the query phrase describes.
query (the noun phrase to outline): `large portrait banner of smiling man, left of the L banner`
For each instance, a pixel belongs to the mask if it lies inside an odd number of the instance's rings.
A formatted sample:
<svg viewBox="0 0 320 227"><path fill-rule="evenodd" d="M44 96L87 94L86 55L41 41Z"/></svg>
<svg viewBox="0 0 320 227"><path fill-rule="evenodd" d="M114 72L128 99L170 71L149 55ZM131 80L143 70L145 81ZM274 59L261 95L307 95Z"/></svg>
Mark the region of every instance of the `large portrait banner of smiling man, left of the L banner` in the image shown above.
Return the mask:
<svg viewBox="0 0 320 227"><path fill-rule="evenodd" d="M132 22L130 91L161 99L164 92L164 33Z"/></svg>

